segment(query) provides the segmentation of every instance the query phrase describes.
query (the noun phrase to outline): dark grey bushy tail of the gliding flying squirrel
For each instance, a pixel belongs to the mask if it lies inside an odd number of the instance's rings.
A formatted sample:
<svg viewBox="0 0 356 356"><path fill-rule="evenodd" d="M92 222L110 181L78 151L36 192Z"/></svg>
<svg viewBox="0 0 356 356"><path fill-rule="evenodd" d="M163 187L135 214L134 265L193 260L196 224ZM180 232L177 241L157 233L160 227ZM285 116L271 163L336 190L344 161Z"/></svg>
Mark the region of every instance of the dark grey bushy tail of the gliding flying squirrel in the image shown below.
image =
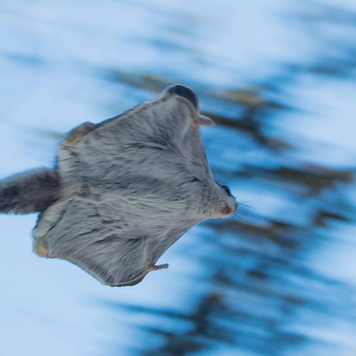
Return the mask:
<svg viewBox="0 0 356 356"><path fill-rule="evenodd" d="M59 179L51 168L37 168L0 180L0 213L30 214L59 198Z"/></svg>

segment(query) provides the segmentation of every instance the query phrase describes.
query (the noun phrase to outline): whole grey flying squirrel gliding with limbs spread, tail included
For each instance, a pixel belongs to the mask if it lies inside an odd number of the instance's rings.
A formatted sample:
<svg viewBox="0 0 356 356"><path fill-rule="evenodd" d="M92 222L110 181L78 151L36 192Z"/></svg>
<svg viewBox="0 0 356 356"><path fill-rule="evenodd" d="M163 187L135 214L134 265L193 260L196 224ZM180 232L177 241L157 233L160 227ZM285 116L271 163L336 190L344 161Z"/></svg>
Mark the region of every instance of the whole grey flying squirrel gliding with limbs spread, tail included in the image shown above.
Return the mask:
<svg viewBox="0 0 356 356"><path fill-rule="evenodd" d="M201 144L195 93L172 85L111 119L85 122L58 147L53 168L0 181L0 212L39 212L33 250L109 286L134 285L200 221L236 210Z"/></svg>

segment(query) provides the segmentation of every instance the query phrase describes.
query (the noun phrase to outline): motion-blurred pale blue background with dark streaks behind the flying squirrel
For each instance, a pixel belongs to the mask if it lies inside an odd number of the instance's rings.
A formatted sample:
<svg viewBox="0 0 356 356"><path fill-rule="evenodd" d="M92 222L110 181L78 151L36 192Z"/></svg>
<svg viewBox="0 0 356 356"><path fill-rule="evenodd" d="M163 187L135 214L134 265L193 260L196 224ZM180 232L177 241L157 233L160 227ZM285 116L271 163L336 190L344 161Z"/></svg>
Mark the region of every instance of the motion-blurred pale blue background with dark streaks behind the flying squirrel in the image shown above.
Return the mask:
<svg viewBox="0 0 356 356"><path fill-rule="evenodd" d="M354 0L2 0L0 75L1 176L178 82L254 208L127 288L36 257L35 215L0 216L1 355L356 355Z"/></svg>

